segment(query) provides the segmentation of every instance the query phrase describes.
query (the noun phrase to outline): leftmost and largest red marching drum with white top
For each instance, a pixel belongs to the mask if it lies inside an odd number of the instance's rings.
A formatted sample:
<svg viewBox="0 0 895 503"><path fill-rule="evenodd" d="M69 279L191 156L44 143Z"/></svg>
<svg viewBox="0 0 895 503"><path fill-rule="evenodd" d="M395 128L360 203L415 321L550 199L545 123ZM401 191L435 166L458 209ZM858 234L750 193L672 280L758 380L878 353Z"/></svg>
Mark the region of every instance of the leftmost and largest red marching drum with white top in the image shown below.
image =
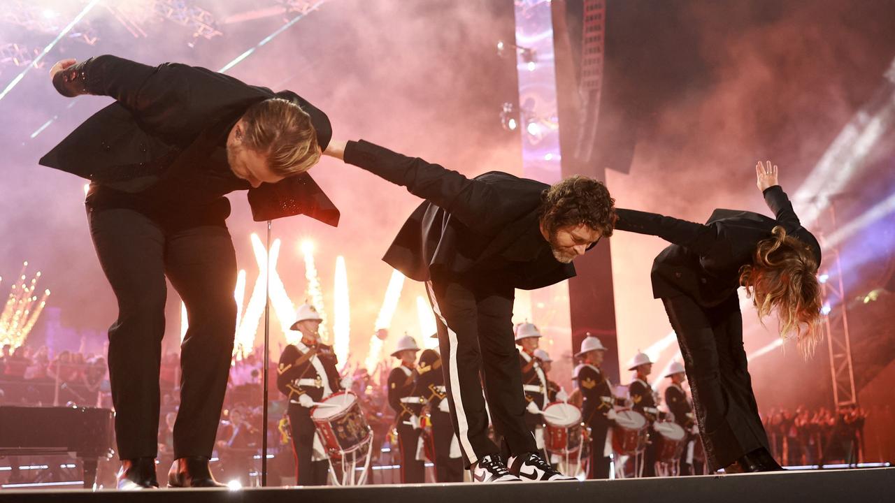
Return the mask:
<svg viewBox="0 0 895 503"><path fill-rule="evenodd" d="M323 404L311 409L311 421L317 426L323 446L330 457L341 457L362 448L370 439L371 430L351 391L340 391L323 400Z"/></svg>

